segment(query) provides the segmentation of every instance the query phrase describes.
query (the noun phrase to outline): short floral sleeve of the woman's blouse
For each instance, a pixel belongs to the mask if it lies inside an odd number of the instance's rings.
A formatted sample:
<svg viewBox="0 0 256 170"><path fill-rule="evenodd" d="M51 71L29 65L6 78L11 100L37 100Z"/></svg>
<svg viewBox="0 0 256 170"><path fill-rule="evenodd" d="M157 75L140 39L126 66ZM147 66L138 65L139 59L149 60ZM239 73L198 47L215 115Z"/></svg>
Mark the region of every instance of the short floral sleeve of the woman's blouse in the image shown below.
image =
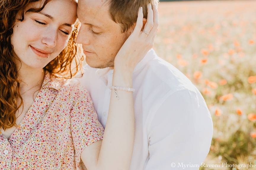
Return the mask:
<svg viewBox="0 0 256 170"><path fill-rule="evenodd" d="M74 90L71 110L71 135L75 148L76 167L81 169L81 152L90 144L103 139L104 128L97 119L92 99L86 89Z"/></svg>

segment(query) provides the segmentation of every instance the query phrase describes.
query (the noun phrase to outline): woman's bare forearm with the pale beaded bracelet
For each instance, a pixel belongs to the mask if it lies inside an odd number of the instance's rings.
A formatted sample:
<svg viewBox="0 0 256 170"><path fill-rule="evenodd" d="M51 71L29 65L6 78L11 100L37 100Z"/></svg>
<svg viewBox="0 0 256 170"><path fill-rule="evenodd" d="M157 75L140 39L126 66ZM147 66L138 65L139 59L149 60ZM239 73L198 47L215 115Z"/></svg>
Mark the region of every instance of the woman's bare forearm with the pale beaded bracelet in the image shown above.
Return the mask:
<svg viewBox="0 0 256 170"><path fill-rule="evenodd" d="M115 70L113 86L132 88L132 73ZM132 157L135 118L132 92L111 90L111 98L97 167L104 170L129 169ZM98 169L97 168L97 169Z"/></svg>

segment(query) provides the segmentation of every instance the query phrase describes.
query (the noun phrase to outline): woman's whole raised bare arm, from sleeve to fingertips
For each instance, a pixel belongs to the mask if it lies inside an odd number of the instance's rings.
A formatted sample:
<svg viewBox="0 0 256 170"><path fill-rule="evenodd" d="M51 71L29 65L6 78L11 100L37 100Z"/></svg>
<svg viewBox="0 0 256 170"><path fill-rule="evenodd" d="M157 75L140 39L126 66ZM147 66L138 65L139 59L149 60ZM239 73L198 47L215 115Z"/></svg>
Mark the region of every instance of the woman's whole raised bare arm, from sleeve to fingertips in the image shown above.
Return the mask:
<svg viewBox="0 0 256 170"><path fill-rule="evenodd" d="M154 12L154 15L153 15ZM158 12L156 7L148 5L148 19L144 30L142 7L138 12L138 19L133 33L126 40L115 58L113 86L132 88L132 72L153 47L158 27ZM135 89L136 90L136 89ZM97 141L85 148L81 153L81 160L88 170L128 170L132 158L135 119L132 92L111 91L108 119L103 141Z"/></svg>

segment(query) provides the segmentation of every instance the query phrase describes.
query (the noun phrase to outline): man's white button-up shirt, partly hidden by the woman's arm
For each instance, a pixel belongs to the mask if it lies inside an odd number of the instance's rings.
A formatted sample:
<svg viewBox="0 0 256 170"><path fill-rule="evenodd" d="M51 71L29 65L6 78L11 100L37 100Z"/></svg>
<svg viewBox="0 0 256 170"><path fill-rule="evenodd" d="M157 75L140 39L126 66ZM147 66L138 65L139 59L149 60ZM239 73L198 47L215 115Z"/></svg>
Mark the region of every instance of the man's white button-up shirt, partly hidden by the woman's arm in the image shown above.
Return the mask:
<svg viewBox="0 0 256 170"><path fill-rule="evenodd" d="M105 128L113 69L84 67ZM151 49L133 72L135 141L131 170L199 169L212 140L212 118L198 89ZM122 113L120 113L122 114Z"/></svg>

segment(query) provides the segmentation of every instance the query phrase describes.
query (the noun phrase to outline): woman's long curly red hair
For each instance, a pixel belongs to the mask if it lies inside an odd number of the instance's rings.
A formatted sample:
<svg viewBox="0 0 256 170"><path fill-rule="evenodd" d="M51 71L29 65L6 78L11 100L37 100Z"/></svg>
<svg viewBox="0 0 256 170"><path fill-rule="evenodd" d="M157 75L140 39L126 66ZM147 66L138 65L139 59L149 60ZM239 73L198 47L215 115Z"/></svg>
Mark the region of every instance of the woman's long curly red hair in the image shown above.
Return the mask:
<svg viewBox="0 0 256 170"><path fill-rule="evenodd" d="M19 68L16 67L13 60L11 44L13 27L15 22L23 21L25 7L36 1L40 0L0 0L0 128L4 130L17 126L15 113L23 106L18 78ZM29 11L40 12L49 1L42 1L43 4L40 8L29 9ZM18 21L16 20L17 15L20 15ZM77 21L66 48L44 67L52 76L70 79L81 69L83 56L80 55L80 46L74 42L78 27L79 22ZM74 69L72 69L73 66L75 66Z"/></svg>

